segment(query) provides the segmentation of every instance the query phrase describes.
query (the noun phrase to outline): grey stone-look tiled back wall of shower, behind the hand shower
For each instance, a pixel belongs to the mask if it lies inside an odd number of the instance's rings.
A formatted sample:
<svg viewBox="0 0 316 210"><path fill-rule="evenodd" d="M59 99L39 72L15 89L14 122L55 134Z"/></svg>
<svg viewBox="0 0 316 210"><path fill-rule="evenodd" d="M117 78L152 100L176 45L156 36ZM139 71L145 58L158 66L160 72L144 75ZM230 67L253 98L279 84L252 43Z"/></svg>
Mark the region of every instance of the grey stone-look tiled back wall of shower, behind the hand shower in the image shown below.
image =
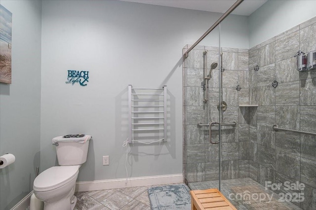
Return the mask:
<svg viewBox="0 0 316 210"><path fill-rule="evenodd" d="M185 52L189 46L186 46ZM203 51L207 50L207 68L219 62L219 48L197 46L189 53L183 68L184 107L184 175L188 182L219 179L219 144L209 142L208 127L199 128L199 122L219 121L219 65L212 70L209 80L208 104L203 103ZM221 174L222 179L249 177L249 115L240 111L239 104L249 104L248 49L222 48L223 100L227 110L223 122L236 122L236 126L222 128ZM237 85L241 87L237 91ZM219 140L218 127L212 128L212 141Z"/></svg>

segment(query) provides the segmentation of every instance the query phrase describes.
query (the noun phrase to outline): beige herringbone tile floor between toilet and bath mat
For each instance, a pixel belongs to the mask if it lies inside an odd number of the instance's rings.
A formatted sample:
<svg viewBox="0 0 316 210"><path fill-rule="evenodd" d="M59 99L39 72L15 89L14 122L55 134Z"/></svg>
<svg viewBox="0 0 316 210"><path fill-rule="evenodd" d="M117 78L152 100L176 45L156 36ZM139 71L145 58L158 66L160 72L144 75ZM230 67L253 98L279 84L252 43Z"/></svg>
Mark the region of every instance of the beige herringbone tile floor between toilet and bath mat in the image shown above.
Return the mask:
<svg viewBox="0 0 316 210"><path fill-rule="evenodd" d="M150 210L148 187L76 192L75 210Z"/></svg>

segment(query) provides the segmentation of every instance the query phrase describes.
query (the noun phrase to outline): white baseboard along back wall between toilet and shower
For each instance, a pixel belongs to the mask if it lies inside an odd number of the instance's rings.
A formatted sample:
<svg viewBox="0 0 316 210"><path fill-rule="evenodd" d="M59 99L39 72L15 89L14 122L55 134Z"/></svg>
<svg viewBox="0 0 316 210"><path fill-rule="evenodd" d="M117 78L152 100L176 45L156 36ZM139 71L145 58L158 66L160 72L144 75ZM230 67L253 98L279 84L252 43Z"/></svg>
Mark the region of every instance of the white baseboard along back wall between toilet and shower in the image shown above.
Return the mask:
<svg viewBox="0 0 316 210"><path fill-rule="evenodd" d="M128 178L127 183L126 183L126 178L96 180L96 181L79 181L76 183L76 192L108 190L108 189L116 189L116 188L139 187L139 186L150 186L150 185L182 183L182 182L183 182L182 174Z"/></svg>

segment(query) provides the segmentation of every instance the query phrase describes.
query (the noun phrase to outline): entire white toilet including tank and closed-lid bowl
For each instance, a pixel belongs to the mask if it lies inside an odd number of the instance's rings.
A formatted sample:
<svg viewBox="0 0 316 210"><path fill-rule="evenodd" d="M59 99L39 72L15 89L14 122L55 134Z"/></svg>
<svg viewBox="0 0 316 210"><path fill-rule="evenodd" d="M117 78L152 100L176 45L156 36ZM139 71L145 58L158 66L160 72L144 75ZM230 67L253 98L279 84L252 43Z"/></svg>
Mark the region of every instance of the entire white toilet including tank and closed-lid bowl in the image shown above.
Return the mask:
<svg viewBox="0 0 316 210"><path fill-rule="evenodd" d="M76 180L81 164L87 159L90 140L88 135L53 139L60 166L43 171L33 184L36 198L44 202L44 210L74 210L77 203L74 195Z"/></svg>

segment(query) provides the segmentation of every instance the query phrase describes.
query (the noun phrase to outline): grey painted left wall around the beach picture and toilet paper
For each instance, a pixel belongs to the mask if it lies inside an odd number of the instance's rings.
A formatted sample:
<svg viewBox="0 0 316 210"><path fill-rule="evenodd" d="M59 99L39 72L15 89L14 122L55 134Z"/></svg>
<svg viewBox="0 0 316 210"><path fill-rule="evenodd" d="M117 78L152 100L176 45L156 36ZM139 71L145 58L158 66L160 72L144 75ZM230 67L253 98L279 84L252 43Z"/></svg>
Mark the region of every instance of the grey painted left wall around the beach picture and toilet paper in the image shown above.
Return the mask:
<svg viewBox="0 0 316 210"><path fill-rule="evenodd" d="M9 210L33 190L40 166L41 2L1 4L12 12L12 84L0 83L0 154L16 157L0 169L0 209Z"/></svg>

